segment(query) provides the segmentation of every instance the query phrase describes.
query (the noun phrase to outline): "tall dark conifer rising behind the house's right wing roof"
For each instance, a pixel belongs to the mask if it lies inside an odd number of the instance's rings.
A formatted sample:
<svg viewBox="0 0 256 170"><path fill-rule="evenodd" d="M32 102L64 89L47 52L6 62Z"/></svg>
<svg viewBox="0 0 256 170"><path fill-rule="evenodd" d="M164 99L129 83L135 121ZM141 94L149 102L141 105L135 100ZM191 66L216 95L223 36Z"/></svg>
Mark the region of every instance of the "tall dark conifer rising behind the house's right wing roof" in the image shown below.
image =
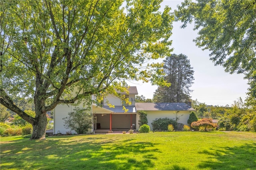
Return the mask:
<svg viewBox="0 0 256 170"><path fill-rule="evenodd" d="M194 80L193 67L184 54L172 54L164 60L164 79L171 86L159 86L154 93L154 102L188 102L190 87Z"/></svg>

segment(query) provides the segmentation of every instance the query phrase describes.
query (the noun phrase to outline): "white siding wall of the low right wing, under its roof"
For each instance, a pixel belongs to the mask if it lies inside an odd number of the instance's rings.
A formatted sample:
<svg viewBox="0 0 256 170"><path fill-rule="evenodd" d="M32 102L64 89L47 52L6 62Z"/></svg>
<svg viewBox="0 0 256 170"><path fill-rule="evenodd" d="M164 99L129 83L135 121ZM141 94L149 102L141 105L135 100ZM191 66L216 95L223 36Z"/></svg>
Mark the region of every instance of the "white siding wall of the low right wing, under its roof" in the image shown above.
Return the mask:
<svg viewBox="0 0 256 170"><path fill-rule="evenodd" d="M152 128L152 121L156 120L156 118L169 118L176 120L176 112L177 111L146 111L148 113L147 119L148 119L148 125L150 126L150 130L153 130ZM187 121L190 115L190 111L179 111L177 114L178 117L178 123L183 123L184 125L188 125Z"/></svg>

